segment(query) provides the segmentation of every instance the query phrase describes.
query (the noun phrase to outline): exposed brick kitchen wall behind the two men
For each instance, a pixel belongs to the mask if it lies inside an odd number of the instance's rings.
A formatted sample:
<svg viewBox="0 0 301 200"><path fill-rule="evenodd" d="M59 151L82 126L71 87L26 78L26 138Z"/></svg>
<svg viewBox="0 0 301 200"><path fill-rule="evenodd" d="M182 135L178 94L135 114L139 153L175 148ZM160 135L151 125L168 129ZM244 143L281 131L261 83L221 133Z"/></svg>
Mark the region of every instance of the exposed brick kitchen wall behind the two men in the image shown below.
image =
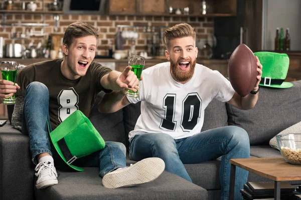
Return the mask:
<svg viewBox="0 0 301 200"><path fill-rule="evenodd" d="M1 0L3 4L4 0ZM45 0L44 7L47 10L47 4L53 0ZM21 9L20 0L14 0L14 9ZM38 5L37 10L42 10L42 0L35 1ZM27 39L15 39L12 38L12 33L23 32L26 33L32 28L34 31L39 31L43 28L45 33L59 34L63 36L64 30L67 26L75 21L82 20L87 21L90 24L98 27L101 34L99 35L99 45L97 48L97 54L107 55L109 40L114 44L114 35L117 31L117 25L131 25L131 26L172 26L177 23L187 22L196 28L197 38L205 40L207 35L213 33L213 18L211 17L183 17L183 16L108 16L108 15L66 15L60 14L58 23L58 31L54 30L54 15L53 14L30 14L30 13L14 13L7 14L7 23L49 23L49 26L38 27L38 26L6 26L5 28L0 27L0 36L5 38L5 43L23 43L26 46L33 42L45 42L47 36L30 36ZM0 15L0 20L3 22L3 15ZM159 28L160 29L160 28ZM159 30L157 28L157 30ZM164 28L161 28L164 30ZM132 28L122 28L122 30L132 30ZM143 32L143 28L139 27L135 29L138 32L138 38L134 41L136 45L136 51L145 50L150 52L150 38L152 36L149 32ZM132 44L131 40L124 42L125 49L130 49ZM161 41L160 52L164 55L165 47ZM202 54L201 54L202 56Z"/></svg>

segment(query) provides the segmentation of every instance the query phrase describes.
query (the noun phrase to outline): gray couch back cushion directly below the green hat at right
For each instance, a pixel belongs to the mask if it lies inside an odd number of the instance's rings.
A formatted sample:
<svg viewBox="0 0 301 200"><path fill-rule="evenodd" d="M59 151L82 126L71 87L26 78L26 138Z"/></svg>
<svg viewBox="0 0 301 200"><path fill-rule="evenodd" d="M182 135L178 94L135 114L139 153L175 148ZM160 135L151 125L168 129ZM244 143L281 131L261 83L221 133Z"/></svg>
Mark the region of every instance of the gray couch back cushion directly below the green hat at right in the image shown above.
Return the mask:
<svg viewBox="0 0 301 200"><path fill-rule="evenodd" d="M268 144L281 130L301 121L301 80L290 88L260 87L254 108L240 110L226 103L228 124L244 128L251 145Z"/></svg>

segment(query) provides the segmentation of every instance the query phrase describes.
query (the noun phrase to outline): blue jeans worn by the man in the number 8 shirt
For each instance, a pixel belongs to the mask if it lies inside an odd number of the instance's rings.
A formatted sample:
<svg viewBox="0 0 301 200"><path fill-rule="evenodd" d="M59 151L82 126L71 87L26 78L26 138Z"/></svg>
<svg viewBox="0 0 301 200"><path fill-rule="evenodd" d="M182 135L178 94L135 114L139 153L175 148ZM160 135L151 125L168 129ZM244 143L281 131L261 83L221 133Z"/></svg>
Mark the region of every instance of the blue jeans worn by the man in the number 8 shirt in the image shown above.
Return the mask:
<svg viewBox="0 0 301 200"><path fill-rule="evenodd" d="M48 88L41 82L32 82L26 87L22 121L22 132L29 135L32 161L37 164L38 154L50 153L55 161L67 166L50 141L49 131L52 128L50 124L48 127L47 120L50 121ZM123 143L107 141L103 149L79 158L72 164L100 167L99 175L103 177L116 168L125 167L125 153Z"/></svg>

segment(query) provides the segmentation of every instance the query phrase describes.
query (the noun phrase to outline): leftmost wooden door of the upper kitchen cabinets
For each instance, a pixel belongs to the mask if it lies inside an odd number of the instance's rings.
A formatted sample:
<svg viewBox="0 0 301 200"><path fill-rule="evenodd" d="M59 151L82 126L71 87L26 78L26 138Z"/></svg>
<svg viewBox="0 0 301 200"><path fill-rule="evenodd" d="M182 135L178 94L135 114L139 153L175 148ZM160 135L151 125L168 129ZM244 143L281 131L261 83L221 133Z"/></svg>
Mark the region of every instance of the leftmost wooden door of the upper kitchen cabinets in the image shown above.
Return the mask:
<svg viewBox="0 0 301 200"><path fill-rule="evenodd" d="M135 14L136 0L110 0L109 13L114 15Z"/></svg>

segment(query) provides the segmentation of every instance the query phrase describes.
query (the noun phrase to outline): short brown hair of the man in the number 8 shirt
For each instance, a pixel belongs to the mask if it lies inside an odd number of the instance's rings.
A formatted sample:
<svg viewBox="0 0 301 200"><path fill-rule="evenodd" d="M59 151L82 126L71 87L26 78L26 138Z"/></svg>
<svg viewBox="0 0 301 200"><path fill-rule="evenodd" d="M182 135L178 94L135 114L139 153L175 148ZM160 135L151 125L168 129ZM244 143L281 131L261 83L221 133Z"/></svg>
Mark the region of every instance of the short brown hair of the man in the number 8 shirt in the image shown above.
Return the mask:
<svg viewBox="0 0 301 200"><path fill-rule="evenodd" d="M99 35L98 28L95 28L89 23L83 21L77 21L71 23L65 31L63 37L63 44L70 46L74 38L88 36L88 35L94 35L96 39L98 39L98 35Z"/></svg>

